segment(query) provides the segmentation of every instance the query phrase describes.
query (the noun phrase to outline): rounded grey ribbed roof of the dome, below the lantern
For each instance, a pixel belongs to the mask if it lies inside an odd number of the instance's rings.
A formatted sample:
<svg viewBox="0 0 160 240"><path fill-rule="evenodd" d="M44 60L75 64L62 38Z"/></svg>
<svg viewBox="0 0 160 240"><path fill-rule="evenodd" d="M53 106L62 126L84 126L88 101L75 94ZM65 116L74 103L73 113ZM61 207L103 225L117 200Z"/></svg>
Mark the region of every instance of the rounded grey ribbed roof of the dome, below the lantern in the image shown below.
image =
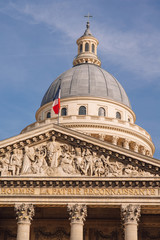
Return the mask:
<svg viewBox="0 0 160 240"><path fill-rule="evenodd" d="M48 88L41 107L52 102L61 84L61 98L100 97L111 99L131 108L127 94L121 84L101 67L84 63L62 73Z"/></svg>

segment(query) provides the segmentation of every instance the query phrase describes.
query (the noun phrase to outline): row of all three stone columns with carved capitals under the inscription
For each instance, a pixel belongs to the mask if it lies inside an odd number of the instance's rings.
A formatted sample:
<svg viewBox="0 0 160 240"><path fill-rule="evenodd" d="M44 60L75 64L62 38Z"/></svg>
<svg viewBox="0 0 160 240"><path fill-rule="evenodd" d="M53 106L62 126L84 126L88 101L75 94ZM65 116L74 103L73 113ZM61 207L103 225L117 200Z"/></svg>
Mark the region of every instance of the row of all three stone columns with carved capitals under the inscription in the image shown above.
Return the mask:
<svg viewBox="0 0 160 240"><path fill-rule="evenodd" d="M87 206L82 204L69 204L67 207L71 225L70 240L83 240L83 225L87 217ZM124 228L124 240L138 239L138 222L140 217L139 205L122 205L121 219ZM34 216L32 204L16 204L17 240L30 239L30 225Z"/></svg>

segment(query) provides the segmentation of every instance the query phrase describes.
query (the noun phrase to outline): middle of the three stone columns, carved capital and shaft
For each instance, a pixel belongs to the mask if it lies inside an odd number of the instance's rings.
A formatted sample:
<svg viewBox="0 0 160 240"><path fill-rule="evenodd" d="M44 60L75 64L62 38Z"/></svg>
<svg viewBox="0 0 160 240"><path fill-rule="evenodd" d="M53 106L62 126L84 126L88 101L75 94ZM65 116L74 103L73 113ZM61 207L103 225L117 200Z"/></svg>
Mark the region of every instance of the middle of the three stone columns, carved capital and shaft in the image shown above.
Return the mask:
<svg viewBox="0 0 160 240"><path fill-rule="evenodd" d="M83 224L87 216L86 205L69 204L68 212L71 220L70 240L83 240Z"/></svg>

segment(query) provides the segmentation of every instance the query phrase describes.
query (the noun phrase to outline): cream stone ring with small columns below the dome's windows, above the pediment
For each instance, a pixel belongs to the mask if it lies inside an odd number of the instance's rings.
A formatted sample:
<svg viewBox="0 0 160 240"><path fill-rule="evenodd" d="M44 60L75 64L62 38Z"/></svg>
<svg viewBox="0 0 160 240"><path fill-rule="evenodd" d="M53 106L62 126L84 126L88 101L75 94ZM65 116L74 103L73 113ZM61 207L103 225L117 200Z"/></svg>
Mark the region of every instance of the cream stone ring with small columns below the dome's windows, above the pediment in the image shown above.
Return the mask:
<svg viewBox="0 0 160 240"><path fill-rule="evenodd" d="M108 137L116 136L117 143L109 141L112 144L118 145L118 142L121 141L122 145L126 147L126 143L132 151L139 152L143 155L153 156L155 151L154 144L152 143L150 135L142 128L135 124L125 124L121 120L116 119L107 119L104 118L103 122L96 119L97 116L65 116L60 117L59 121L61 126L74 129L76 131L84 132L87 135L96 136L96 138L101 139L101 136L105 136L104 141L108 141ZM92 120L93 119L93 120ZM108 120L108 121L107 121ZM116 120L116 121L115 121ZM39 123L34 123L25 128L22 133L32 131L33 129L38 129L42 126L49 126L51 123L56 123L56 118L46 119ZM129 146L128 145L128 146Z"/></svg>

